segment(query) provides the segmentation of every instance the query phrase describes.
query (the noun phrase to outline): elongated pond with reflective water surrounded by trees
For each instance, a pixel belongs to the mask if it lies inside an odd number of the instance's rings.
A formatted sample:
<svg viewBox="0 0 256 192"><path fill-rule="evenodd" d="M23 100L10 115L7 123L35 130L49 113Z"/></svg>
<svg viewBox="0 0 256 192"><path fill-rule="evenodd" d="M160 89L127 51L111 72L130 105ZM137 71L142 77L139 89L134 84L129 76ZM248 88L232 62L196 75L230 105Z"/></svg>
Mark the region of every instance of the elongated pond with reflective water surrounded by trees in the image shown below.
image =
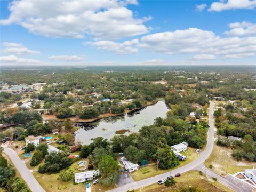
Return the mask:
<svg viewBox="0 0 256 192"><path fill-rule="evenodd" d="M165 102L159 100L155 105L148 106L132 114L125 114L118 117L100 119L93 123L77 123L81 129L75 132L76 141L84 145L90 144L92 138L103 137L111 139L117 135L115 131L126 129L125 135L138 132L142 126L151 125L156 117L166 117L169 111Z"/></svg>

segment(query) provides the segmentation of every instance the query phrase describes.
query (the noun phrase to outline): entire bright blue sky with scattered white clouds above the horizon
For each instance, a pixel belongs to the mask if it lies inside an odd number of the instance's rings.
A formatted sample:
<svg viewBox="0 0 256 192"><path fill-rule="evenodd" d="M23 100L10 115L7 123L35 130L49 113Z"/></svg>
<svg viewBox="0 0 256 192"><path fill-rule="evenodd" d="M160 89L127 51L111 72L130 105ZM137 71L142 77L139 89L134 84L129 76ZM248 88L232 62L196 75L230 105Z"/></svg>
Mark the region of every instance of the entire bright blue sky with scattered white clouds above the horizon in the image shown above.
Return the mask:
<svg viewBox="0 0 256 192"><path fill-rule="evenodd" d="M1 65L256 61L255 0L0 3Z"/></svg>

